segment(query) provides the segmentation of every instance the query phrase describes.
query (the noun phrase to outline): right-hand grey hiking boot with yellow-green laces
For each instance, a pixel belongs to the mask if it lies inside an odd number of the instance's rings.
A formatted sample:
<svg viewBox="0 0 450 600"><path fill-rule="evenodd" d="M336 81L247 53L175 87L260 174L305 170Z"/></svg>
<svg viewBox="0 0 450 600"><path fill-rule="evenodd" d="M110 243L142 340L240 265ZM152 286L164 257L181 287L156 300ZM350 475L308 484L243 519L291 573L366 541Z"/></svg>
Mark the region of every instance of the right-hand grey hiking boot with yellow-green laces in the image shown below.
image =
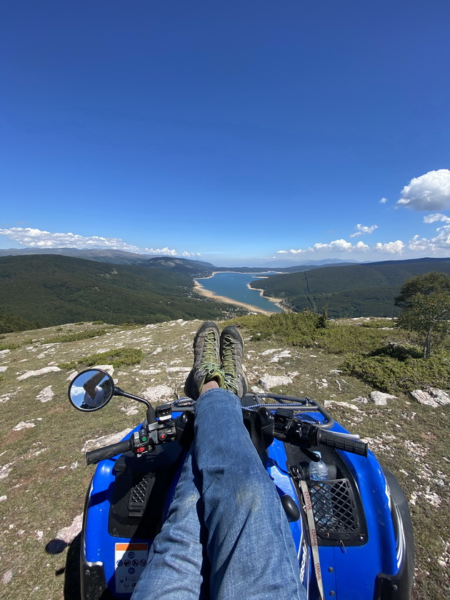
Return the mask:
<svg viewBox="0 0 450 600"><path fill-rule="evenodd" d="M249 386L242 369L244 339L234 325L225 327L220 336L220 359L224 369L224 388L232 391L239 398L247 393Z"/></svg>

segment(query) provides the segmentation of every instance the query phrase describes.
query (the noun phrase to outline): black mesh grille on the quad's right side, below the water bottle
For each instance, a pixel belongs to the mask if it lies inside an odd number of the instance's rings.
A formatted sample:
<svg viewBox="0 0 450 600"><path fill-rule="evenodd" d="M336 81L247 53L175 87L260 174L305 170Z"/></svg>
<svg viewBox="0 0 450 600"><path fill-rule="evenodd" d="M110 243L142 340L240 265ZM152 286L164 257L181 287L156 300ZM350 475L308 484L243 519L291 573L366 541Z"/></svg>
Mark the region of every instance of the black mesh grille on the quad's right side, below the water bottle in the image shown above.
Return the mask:
<svg viewBox="0 0 450 600"><path fill-rule="evenodd" d="M349 539L359 533L359 518L348 479L308 481L317 534Z"/></svg>

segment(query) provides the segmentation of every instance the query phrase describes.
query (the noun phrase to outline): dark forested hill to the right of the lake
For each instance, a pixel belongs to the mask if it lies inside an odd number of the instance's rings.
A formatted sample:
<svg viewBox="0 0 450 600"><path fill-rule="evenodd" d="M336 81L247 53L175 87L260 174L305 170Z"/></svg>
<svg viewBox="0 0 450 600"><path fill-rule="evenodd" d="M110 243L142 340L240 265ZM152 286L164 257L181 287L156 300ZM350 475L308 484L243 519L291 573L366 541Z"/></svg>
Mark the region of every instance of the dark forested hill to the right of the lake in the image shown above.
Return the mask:
<svg viewBox="0 0 450 600"><path fill-rule="evenodd" d="M296 311L328 309L331 317L396 316L394 298L401 285L429 271L450 274L450 259L324 266L259 279L251 287L264 289L264 296L283 298Z"/></svg>

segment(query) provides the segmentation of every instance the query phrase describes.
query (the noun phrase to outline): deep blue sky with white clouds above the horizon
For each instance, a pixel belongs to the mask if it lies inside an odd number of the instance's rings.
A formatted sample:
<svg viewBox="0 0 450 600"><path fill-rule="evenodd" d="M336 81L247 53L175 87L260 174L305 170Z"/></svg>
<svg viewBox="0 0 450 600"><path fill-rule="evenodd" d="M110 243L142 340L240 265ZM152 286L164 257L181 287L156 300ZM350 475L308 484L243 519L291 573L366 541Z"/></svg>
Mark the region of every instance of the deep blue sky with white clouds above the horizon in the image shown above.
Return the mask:
<svg viewBox="0 0 450 600"><path fill-rule="evenodd" d="M6 0L0 248L450 256L450 3Z"/></svg>

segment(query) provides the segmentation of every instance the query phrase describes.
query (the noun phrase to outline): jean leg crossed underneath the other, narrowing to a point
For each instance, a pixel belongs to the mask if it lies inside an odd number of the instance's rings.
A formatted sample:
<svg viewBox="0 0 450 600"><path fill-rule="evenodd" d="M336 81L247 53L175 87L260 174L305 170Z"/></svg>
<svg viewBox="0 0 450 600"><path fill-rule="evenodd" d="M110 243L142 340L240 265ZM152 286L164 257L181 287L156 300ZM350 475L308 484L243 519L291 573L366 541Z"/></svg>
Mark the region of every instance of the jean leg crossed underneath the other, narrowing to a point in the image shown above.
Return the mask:
<svg viewBox="0 0 450 600"><path fill-rule="evenodd" d="M206 595L209 563L204 560L203 504L193 461L191 449L168 518L154 539L132 600L199 600Z"/></svg>

